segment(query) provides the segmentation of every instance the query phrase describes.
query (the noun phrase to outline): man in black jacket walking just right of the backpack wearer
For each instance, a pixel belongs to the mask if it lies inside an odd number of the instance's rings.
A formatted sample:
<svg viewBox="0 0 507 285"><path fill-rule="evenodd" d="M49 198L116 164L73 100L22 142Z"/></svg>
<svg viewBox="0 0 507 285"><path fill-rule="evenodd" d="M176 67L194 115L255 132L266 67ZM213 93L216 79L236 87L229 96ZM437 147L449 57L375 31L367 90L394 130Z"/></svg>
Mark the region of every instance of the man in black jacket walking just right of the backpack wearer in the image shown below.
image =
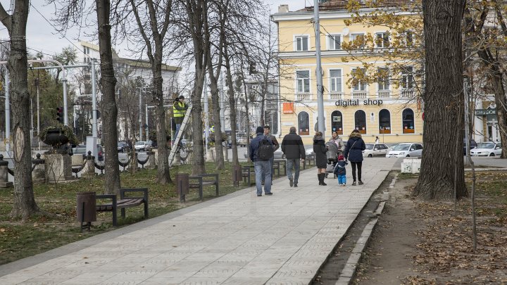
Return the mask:
<svg viewBox="0 0 507 285"><path fill-rule="evenodd" d="M282 140L282 152L285 154L287 167L287 178L289 178L289 185L297 187L299 179L299 161L304 163L306 153L303 145L303 140L296 134L296 127L289 129L289 134L286 134ZM294 179L292 179L292 167L294 166Z"/></svg>

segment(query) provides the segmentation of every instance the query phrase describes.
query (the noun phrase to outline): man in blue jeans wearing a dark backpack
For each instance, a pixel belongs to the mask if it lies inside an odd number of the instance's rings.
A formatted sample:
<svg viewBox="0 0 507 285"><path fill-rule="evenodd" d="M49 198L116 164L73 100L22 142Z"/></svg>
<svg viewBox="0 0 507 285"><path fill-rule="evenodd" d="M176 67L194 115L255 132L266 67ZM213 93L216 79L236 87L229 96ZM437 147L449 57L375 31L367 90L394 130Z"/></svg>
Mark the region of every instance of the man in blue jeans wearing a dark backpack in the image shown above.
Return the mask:
<svg viewBox="0 0 507 285"><path fill-rule="evenodd" d="M273 156L273 141L270 137L264 135L264 128L257 127L257 137L250 141L249 153L250 160L253 161L253 167L256 173L257 196L262 196L262 177L265 177L264 194L271 193L271 164L270 158L265 157L266 147L271 148L270 153Z"/></svg>

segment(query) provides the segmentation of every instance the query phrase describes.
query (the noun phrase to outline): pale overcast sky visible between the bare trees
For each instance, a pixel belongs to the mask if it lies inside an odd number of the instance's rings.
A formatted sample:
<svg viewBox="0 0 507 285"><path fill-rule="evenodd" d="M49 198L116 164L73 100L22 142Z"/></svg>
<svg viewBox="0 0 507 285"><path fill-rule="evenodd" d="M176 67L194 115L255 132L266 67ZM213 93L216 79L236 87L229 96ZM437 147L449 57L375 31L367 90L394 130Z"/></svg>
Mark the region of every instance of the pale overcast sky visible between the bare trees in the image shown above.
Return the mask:
<svg viewBox="0 0 507 285"><path fill-rule="evenodd" d="M313 6L313 0L263 0L270 6L271 13L277 13L280 4L288 4L289 11L296 11L306 6ZM46 6L45 0L32 0L30 14L27 23L27 48L32 54L37 51L44 53L46 56L53 56L60 53L66 47L75 44L77 39L90 41L85 34L85 30L72 29L63 37L56 32L55 27L51 25L51 18L54 18L54 6ZM0 0L0 3L6 10L9 9L11 0ZM0 41L8 39L7 30L0 25ZM113 46L120 56L127 57L127 52L123 51L123 46Z"/></svg>

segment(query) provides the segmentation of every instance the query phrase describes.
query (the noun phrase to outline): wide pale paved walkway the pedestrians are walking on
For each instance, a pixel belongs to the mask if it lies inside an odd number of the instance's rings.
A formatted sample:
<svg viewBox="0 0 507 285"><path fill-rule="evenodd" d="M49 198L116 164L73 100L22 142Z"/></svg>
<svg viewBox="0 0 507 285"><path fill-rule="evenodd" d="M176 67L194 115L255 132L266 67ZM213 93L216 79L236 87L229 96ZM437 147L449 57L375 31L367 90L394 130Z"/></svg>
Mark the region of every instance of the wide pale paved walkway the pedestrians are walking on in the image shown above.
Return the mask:
<svg viewBox="0 0 507 285"><path fill-rule="evenodd" d="M363 186L275 180L0 267L1 284L309 284L396 158L368 158Z"/></svg>

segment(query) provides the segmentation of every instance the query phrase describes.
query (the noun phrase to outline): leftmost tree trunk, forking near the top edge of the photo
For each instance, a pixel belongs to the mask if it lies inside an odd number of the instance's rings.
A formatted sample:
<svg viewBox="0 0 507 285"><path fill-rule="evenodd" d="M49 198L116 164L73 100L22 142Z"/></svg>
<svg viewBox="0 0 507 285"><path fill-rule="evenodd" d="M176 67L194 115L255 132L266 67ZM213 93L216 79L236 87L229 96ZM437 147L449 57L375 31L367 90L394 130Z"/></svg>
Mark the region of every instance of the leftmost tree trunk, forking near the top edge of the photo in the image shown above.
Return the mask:
<svg viewBox="0 0 507 285"><path fill-rule="evenodd" d="M0 4L1 6L1 4ZM7 69L11 79L11 108L13 115L14 191L11 217L28 217L39 213L32 185L32 149L30 145L30 94L28 93L28 62L26 49L26 24L30 1L15 1L13 15L8 15L3 6L1 22L7 27L10 54Z"/></svg>

